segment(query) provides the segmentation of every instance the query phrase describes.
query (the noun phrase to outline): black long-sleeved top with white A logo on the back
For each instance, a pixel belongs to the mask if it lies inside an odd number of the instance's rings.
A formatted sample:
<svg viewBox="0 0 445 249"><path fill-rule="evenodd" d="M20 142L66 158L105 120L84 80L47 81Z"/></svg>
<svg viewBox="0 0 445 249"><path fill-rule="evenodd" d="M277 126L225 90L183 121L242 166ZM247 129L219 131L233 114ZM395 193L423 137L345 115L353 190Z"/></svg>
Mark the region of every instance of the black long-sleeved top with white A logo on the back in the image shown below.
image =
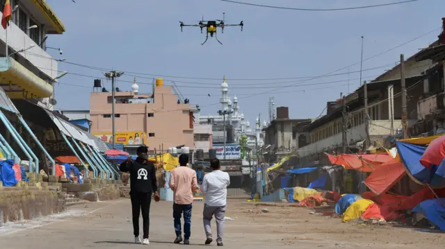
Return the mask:
<svg viewBox="0 0 445 249"><path fill-rule="evenodd" d="M130 173L130 192L152 193L158 191L156 184L156 167L152 162L136 159L133 162L120 164L120 171ZM143 162L143 163L141 163Z"/></svg>

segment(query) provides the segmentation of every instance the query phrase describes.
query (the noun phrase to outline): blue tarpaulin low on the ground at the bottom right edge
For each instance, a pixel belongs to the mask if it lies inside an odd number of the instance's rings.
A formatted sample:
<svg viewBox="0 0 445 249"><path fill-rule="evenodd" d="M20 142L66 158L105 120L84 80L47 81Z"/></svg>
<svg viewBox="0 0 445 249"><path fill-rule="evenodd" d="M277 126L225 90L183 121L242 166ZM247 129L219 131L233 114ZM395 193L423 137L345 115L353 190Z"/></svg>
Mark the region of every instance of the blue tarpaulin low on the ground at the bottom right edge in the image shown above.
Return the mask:
<svg viewBox="0 0 445 249"><path fill-rule="evenodd" d="M422 213L428 218L428 221L431 221L443 231L445 230L445 207L441 201L445 203L445 198L423 200L412 209L412 212Z"/></svg>

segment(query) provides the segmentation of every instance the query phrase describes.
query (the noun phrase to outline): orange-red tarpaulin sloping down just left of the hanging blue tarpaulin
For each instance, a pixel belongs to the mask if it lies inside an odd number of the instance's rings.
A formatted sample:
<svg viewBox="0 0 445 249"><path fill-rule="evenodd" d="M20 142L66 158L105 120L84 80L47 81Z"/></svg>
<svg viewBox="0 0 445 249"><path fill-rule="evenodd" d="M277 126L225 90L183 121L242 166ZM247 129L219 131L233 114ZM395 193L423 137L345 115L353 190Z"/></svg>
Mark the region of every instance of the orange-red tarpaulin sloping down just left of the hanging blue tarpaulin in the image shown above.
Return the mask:
<svg viewBox="0 0 445 249"><path fill-rule="evenodd" d="M402 162L390 161L380 164L371 175L364 181L371 191L380 195L391 189L391 187L406 175Z"/></svg>

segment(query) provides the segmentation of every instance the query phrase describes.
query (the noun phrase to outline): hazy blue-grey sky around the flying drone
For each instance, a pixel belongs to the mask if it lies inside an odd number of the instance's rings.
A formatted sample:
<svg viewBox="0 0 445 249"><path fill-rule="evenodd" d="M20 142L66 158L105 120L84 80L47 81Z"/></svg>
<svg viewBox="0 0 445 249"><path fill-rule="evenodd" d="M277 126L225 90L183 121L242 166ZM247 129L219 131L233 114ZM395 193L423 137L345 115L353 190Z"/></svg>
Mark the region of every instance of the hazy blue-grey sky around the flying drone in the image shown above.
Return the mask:
<svg viewBox="0 0 445 249"><path fill-rule="evenodd" d="M63 35L47 40L47 46L62 49L63 55L48 52L78 64L58 65L69 74L56 85L56 110L88 110L94 78L115 69L125 72L118 80L122 90L131 89L135 76L141 93L152 91L153 78L163 78L164 85L175 81L184 98L200 106L201 114L220 109L225 76L229 96L238 97L250 122L258 114L268 121L269 97L275 98L276 106L289 107L290 118L318 117L327 101L359 87L362 36L362 78L372 80L394 67L401 53L408 58L437 40L445 16L444 0L342 11L280 10L219 0L75 1L47 0L66 27ZM239 1L343 8L400 0ZM222 19L223 12L226 24L245 24L243 32L236 26L218 33L223 46L210 37L202 46L205 32L201 34L200 28L184 27L181 32L179 21L197 24L202 15ZM341 75L328 76L334 71ZM111 81L102 83L111 89Z"/></svg>

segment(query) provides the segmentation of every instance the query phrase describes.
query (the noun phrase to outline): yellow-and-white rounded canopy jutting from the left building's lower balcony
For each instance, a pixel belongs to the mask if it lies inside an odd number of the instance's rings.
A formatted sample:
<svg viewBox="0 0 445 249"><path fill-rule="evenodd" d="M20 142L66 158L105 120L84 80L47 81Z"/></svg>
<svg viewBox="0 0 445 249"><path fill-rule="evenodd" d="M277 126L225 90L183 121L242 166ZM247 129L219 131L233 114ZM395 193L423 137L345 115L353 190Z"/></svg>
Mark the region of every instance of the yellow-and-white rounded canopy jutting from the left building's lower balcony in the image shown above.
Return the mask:
<svg viewBox="0 0 445 249"><path fill-rule="evenodd" d="M53 86L13 58L0 58L0 81L10 98L48 98Z"/></svg>

